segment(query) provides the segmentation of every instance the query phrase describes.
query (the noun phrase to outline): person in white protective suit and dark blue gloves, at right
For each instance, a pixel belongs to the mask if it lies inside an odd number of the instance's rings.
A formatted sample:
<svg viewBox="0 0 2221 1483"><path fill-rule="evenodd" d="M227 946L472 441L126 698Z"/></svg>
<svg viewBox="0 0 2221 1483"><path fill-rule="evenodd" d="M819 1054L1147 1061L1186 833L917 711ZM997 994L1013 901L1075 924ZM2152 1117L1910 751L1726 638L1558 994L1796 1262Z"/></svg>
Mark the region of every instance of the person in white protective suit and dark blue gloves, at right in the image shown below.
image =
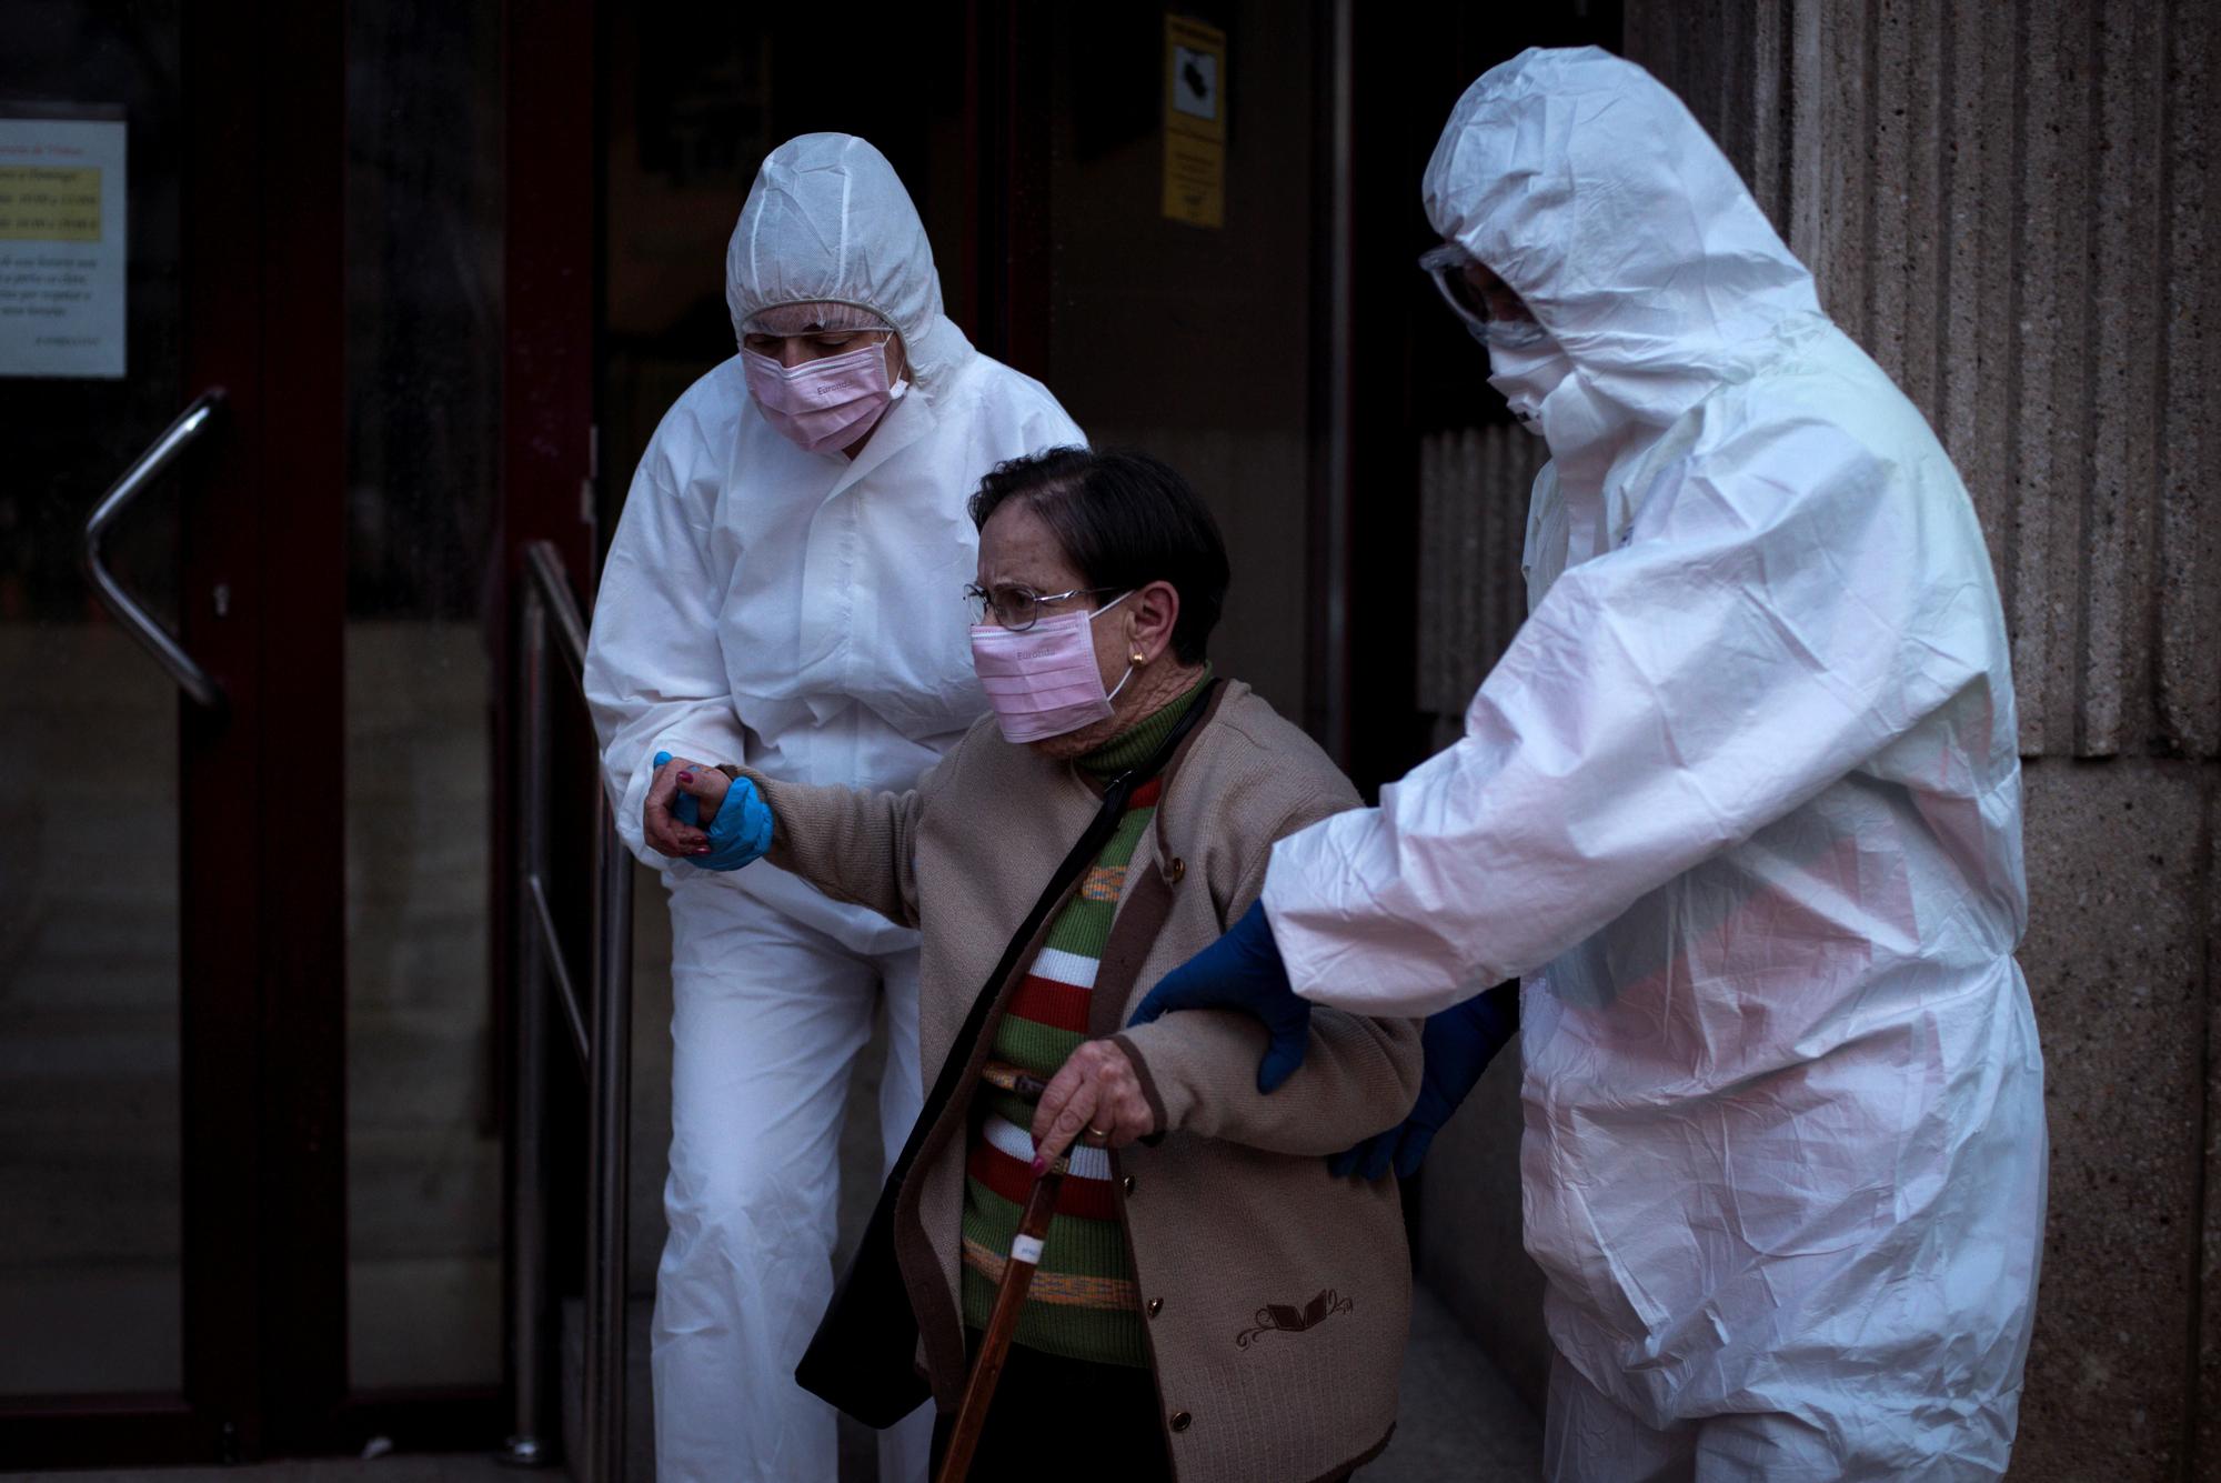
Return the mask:
<svg viewBox="0 0 2221 1483"><path fill-rule="evenodd" d="M1550 444L1528 622L1464 739L1284 839L1139 1015L1430 1015L1408 1168L1508 1035L1475 988L1521 977L1550 1476L1997 1476L2046 1126L1966 488L1639 67L1497 67L1424 195Z"/></svg>

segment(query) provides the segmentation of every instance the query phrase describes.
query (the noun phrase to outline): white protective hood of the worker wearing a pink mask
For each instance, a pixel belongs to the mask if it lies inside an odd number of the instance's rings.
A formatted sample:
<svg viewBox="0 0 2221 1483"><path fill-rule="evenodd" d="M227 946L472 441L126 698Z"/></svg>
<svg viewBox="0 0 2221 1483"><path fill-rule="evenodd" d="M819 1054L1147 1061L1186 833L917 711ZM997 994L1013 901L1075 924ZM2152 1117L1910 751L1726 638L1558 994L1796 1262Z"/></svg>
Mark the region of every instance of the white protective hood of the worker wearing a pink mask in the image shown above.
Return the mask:
<svg viewBox="0 0 2221 1483"><path fill-rule="evenodd" d="M860 304L895 326L922 389L973 346L942 313L926 224L902 178L853 133L802 133L764 160L724 255L724 300L740 335L780 304Z"/></svg>

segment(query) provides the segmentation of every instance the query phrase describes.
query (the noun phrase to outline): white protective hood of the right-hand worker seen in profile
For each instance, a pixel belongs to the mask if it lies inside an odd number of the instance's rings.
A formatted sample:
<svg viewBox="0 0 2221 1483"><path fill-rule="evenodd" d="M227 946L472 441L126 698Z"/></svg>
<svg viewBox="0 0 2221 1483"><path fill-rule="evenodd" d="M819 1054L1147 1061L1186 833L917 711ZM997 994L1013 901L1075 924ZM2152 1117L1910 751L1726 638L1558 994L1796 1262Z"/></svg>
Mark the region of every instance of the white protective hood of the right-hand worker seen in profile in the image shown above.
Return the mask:
<svg viewBox="0 0 2221 1483"><path fill-rule="evenodd" d="M1466 89L1421 184L1444 240L1488 264L1572 357L1566 433L1666 426L1819 320L1710 135L1635 62L1521 51ZM1546 417L1550 451L1566 460ZM1592 444L1590 444L1592 446Z"/></svg>

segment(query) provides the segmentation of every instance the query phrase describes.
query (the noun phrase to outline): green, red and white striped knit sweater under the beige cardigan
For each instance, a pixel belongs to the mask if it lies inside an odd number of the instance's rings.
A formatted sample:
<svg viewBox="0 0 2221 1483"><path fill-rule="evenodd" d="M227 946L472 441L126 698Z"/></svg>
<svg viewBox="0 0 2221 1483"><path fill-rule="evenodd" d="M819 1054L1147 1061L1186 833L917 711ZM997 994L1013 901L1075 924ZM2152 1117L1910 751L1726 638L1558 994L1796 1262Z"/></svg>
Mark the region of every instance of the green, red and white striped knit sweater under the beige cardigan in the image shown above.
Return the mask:
<svg viewBox="0 0 2221 1483"><path fill-rule="evenodd" d="M1082 757L1082 770L1108 779L1146 761L1208 682L1206 668L1186 695ZM1079 892L1048 926L1039 957L995 1028L991 1077L1008 1079L1002 1068L1015 1068L1046 1081L1088 1037L1095 968L1110 941L1126 864L1157 813L1159 793L1157 779L1135 788ZM982 1088L979 1101L986 1117L973 1137L964 1181L964 1323L975 1330L986 1328L995 1308L1004 1257L1033 1188L1033 1103L993 1081ZM1108 1365L1148 1363L1126 1232L1110 1194L1110 1154L1102 1148L1075 1143L1071 1150L1042 1263L1017 1321L1017 1343Z"/></svg>

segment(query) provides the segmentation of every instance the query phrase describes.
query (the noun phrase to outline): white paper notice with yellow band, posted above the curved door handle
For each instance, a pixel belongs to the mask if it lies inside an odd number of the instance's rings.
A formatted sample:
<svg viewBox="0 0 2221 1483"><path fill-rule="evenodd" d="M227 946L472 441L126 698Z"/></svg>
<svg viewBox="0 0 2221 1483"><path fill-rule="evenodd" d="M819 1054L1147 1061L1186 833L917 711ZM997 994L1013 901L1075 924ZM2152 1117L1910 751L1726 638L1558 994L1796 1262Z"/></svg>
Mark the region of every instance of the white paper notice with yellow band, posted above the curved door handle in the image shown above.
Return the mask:
<svg viewBox="0 0 2221 1483"><path fill-rule="evenodd" d="M0 375L124 373L124 122L0 113Z"/></svg>

